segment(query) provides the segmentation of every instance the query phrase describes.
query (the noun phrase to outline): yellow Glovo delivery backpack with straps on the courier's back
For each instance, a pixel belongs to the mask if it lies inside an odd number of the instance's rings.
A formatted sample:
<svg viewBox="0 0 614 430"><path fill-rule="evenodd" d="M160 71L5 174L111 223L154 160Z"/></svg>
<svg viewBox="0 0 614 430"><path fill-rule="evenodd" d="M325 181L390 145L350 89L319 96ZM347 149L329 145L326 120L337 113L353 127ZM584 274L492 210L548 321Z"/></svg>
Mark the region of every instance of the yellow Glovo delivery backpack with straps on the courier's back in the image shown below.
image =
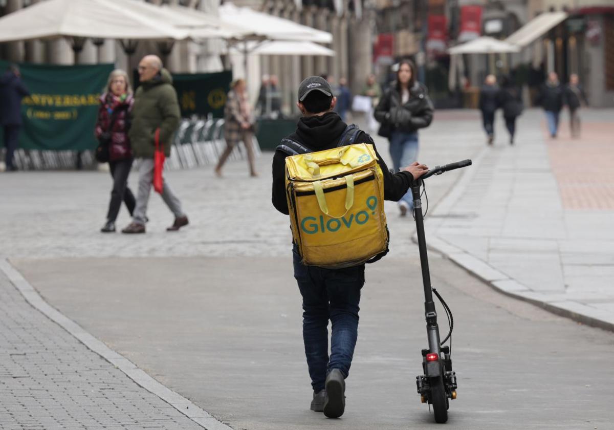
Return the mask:
<svg viewBox="0 0 614 430"><path fill-rule="evenodd" d="M293 241L305 265L351 267L388 250L384 176L375 149L345 144L359 133L348 126L340 146L325 151L308 152L289 139L278 147L295 154L286 157L286 198Z"/></svg>

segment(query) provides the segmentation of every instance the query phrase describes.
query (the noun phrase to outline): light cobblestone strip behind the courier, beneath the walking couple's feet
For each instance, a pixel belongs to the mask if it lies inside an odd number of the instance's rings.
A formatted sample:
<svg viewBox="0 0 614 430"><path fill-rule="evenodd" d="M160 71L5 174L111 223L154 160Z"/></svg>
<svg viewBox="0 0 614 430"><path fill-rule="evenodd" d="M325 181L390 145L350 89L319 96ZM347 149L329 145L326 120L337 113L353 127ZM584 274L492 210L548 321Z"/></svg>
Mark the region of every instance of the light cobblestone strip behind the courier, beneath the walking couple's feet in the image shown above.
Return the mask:
<svg viewBox="0 0 614 430"><path fill-rule="evenodd" d="M419 159L445 164L471 158L483 141L478 116L461 119L443 112L433 127L421 134ZM440 119L441 117L441 119ZM385 158L387 141L376 137ZM3 174L0 181L0 257L147 257L147 256L287 256L291 235L287 216L271 205L270 152L258 162L260 177L249 178L245 162L230 162L224 178L212 168L166 173L184 204L190 226L167 233L173 216L152 192L146 235L103 235L111 179L102 172L20 172ZM432 204L448 191L461 173L450 173L429 182ZM130 184L136 184L136 174ZM133 188L134 189L134 188ZM415 252L411 243L413 219L400 219L394 202L387 202L392 249ZM130 222L125 208L117 227Z"/></svg>

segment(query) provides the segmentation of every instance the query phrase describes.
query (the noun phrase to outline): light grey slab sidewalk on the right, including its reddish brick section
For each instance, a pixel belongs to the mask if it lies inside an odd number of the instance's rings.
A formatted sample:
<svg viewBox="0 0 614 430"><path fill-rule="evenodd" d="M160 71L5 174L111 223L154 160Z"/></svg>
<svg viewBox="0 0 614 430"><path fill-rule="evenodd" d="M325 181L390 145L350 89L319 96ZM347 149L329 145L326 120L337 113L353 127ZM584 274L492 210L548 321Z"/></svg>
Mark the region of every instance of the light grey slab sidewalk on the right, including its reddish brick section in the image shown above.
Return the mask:
<svg viewBox="0 0 614 430"><path fill-rule="evenodd" d="M581 139L563 122L553 140L530 110L513 147L499 122L427 220L429 244L505 294L614 330L612 117L585 111Z"/></svg>

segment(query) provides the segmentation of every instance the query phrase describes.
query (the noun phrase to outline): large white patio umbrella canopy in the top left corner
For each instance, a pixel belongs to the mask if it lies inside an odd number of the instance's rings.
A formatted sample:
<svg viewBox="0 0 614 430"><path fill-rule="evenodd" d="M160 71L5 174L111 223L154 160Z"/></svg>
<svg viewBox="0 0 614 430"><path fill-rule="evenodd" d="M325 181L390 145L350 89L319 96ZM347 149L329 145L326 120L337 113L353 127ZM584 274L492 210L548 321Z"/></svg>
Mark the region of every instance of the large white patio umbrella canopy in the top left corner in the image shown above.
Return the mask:
<svg viewBox="0 0 614 430"><path fill-rule="evenodd" d="M0 18L0 42L55 37L173 41L188 38L188 31L156 18L153 11L157 9L136 0L42 1Z"/></svg>

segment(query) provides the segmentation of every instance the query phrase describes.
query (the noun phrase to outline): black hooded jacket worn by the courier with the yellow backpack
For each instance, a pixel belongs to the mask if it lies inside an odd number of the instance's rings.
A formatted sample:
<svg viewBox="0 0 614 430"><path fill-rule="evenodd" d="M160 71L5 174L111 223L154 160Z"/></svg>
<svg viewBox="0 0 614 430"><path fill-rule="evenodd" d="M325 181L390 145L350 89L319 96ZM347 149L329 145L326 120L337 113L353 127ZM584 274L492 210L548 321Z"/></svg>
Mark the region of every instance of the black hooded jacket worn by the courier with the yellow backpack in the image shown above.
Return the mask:
<svg viewBox="0 0 614 430"><path fill-rule="evenodd" d="M301 117L297 123L297 131L288 136L295 142L316 151L324 151L337 146L347 125L336 112L327 112L321 116ZM375 148L373 139L364 131L360 131L356 143L369 143ZM384 198L398 201L405 195L413 182L413 175L408 171L392 174L386 163L380 157L377 149L378 164L384 173ZM286 157L282 151L276 151L273 157L273 206L282 214L289 214L286 201Z"/></svg>

